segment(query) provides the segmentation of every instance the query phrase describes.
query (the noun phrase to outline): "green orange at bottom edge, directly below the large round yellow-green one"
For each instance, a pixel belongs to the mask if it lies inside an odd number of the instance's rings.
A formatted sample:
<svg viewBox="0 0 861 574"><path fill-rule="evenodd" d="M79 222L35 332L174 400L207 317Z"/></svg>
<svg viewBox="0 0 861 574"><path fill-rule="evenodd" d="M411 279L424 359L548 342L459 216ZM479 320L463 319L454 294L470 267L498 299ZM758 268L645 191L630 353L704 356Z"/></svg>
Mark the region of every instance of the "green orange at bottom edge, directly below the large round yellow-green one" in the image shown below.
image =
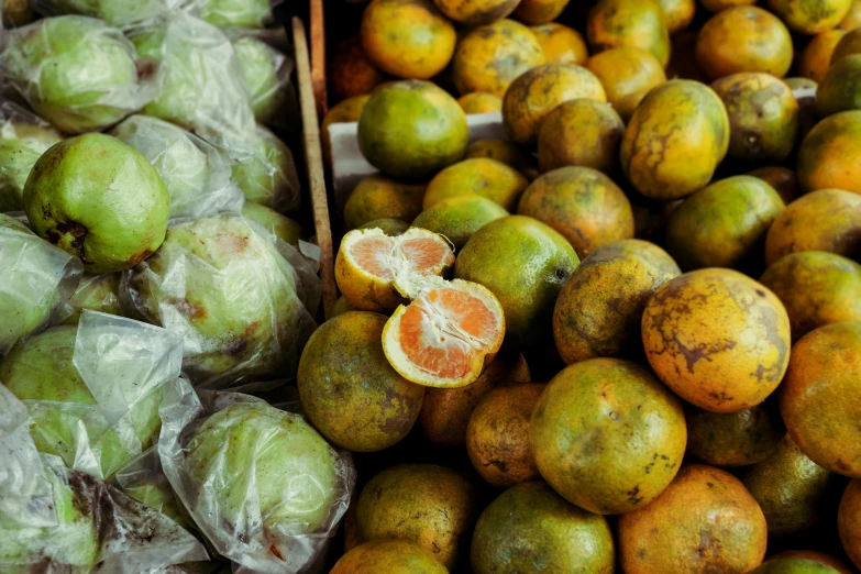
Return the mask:
<svg viewBox="0 0 861 574"><path fill-rule="evenodd" d="M603 516L569 504L544 483L523 483L482 512L472 566L475 574L611 574L612 534Z"/></svg>

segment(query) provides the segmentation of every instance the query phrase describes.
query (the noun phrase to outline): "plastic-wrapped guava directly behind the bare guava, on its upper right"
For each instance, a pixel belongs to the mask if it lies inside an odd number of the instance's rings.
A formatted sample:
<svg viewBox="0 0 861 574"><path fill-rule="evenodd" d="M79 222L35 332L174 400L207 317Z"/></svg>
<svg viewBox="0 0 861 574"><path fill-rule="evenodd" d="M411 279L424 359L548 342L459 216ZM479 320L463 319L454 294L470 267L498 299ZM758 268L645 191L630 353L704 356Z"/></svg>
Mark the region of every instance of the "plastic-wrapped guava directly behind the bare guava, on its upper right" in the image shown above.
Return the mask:
<svg viewBox="0 0 861 574"><path fill-rule="evenodd" d="M158 118L132 115L111 135L146 157L170 195L170 219L239 212L245 198L231 166L213 146Z"/></svg>

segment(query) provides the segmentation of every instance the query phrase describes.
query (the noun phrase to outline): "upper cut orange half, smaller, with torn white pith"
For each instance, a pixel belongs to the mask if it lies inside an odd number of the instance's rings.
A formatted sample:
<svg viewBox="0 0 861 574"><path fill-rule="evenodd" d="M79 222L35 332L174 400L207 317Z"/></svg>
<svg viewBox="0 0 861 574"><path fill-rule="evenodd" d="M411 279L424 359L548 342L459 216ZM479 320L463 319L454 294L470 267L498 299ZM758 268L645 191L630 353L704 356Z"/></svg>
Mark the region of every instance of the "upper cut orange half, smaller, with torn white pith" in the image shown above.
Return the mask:
<svg viewBox="0 0 861 574"><path fill-rule="evenodd" d="M453 264L451 244L431 231L412 228L389 236L378 228L356 229L341 241L335 280L353 309L390 311L407 301L410 286Z"/></svg>

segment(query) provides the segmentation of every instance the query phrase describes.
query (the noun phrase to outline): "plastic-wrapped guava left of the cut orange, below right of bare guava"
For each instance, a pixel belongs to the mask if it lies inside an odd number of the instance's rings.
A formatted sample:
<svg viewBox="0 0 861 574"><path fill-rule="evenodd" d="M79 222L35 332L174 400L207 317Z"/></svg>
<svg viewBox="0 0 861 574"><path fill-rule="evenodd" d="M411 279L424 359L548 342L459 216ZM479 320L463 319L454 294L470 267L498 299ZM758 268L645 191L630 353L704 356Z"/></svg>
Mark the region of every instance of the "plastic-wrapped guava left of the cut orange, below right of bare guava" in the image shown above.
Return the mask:
<svg viewBox="0 0 861 574"><path fill-rule="evenodd" d="M295 247L242 216L168 228L162 247L123 276L126 308L184 340L195 385L289 376L316 327L320 279Z"/></svg>

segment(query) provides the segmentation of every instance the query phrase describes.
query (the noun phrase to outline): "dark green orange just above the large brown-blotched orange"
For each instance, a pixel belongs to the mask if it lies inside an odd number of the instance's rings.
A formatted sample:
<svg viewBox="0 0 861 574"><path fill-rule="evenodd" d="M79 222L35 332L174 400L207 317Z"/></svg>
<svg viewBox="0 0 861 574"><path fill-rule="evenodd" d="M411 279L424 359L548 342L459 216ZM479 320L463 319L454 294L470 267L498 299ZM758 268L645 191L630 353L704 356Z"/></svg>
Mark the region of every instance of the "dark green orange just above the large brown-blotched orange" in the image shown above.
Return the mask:
<svg viewBox="0 0 861 574"><path fill-rule="evenodd" d="M738 267L761 257L769 228L785 208L753 176L715 181L684 200L666 224L666 250L685 269Z"/></svg>

